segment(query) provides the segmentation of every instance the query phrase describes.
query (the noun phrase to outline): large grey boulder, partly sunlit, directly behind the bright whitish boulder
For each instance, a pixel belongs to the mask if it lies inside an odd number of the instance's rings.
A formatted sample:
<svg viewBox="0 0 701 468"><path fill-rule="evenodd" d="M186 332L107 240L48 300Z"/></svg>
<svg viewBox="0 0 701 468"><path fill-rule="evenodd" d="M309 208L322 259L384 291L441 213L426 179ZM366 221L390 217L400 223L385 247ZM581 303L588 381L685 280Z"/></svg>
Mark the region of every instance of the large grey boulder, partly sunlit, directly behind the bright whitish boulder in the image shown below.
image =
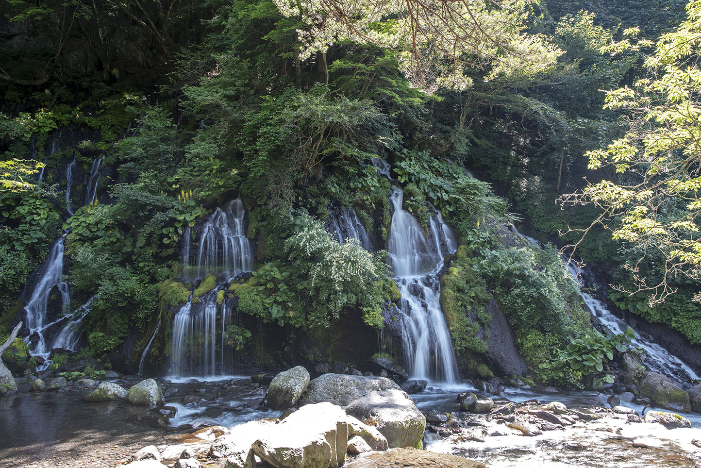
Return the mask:
<svg viewBox="0 0 701 468"><path fill-rule="evenodd" d="M390 447L423 446L426 417L414 400L392 380L383 377L327 373L309 383L300 405L329 401L349 415L377 427Z"/></svg>

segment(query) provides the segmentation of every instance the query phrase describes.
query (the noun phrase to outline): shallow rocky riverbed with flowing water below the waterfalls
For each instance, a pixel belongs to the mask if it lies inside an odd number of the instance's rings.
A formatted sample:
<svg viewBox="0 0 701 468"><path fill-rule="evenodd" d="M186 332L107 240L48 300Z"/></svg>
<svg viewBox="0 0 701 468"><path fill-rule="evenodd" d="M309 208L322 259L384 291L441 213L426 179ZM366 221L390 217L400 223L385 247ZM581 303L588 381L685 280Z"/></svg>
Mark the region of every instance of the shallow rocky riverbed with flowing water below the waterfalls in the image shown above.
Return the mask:
<svg viewBox="0 0 701 468"><path fill-rule="evenodd" d="M53 392L21 389L25 391L0 399L0 465L115 467L130 462L138 450L153 446L149 450L158 454L161 466L186 467L198 463L224 468L228 457L212 454L212 444L219 436L236 432L241 424L261 418L269 427L280 426L291 413L289 409L265 406L270 378L254 379L257 382L250 376L231 376L215 382L157 379L165 399L158 406L121 400L84 401L83 397L93 392L97 383L90 388L85 383L67 383ZM336 380L325 388L348 387L345 381ZM125 390L141 381L136 377L109 380ZM297 406L304 402L318 404L328 397L319 388L314 390L314 380L311 382L306 397L310 401L294 401ZM404 392L387 383L376 386L369 396L360 399L374 399L382 394L385 399L404 398L401 397ZM294 389L291 395L293 400L299 398ZM354 408L360 411L357 396L339 390L336 392L339 401L333 403L346 408L348 413ZM482 463L491 468L701 466L701 418L697 415L686 415L691 427L685 427L685 419L672 415L662 415L664 424L660 424L659 415L648 410L642 416L643 408L630 401L611 408L606 395L596 392L534 394L507 388L502 395L495 396L465 384L442 389L429 386L411 397L426 418L423 447L435 453L456 455L465 464L426 451L421 452L425 456L420 462L418 452L402 450L378 453L376 458L369 458L376 452L356 455L355 449L350 448L351 436L347 441L346 466L397 466L395 462L402 464L407 460L416 460L416 466L422 467L449 464L479 467L484 466ZM388 405L388 401L383 405ZM552 404L553 401L560 404ZM362 416L362 411L355 414ZM370 420L366 418L367 422ZM285 424L291 426L292 422L294 418ZM265 429L263 433L268 432ZM362 446L358 440L355 443ZM402 445L401 441L396 443ZM189 462L178 461L184 452ZM467 464L465 459L475 460L477 464ZM151 466L158 465L151 463ZM269 465L261 461L259 466Z"/></svg>

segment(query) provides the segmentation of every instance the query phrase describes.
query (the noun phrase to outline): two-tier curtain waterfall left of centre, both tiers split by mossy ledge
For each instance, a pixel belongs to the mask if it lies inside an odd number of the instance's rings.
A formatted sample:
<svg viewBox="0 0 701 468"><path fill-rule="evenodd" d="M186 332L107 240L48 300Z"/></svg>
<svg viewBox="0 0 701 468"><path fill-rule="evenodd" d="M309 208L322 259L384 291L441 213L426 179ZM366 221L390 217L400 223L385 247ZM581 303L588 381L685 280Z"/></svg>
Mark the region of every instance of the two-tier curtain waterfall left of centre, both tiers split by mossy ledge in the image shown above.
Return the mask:
<svg viewBox="0 0 701 468"><path fill-rule="evenodd" d="M233 324L233 317L226 301L217 303L217 296L232 278L253 269L253 245L245 235L245 214L240 199L217 207L200 228L197 249L191 247L191 231L185 230L181 245L184 275L196 270L200 279L216 273L219 284L197 299L191 296L175 313L173 375L223 375L233 364L233 350L226 343L226 328Z"/></svg>

